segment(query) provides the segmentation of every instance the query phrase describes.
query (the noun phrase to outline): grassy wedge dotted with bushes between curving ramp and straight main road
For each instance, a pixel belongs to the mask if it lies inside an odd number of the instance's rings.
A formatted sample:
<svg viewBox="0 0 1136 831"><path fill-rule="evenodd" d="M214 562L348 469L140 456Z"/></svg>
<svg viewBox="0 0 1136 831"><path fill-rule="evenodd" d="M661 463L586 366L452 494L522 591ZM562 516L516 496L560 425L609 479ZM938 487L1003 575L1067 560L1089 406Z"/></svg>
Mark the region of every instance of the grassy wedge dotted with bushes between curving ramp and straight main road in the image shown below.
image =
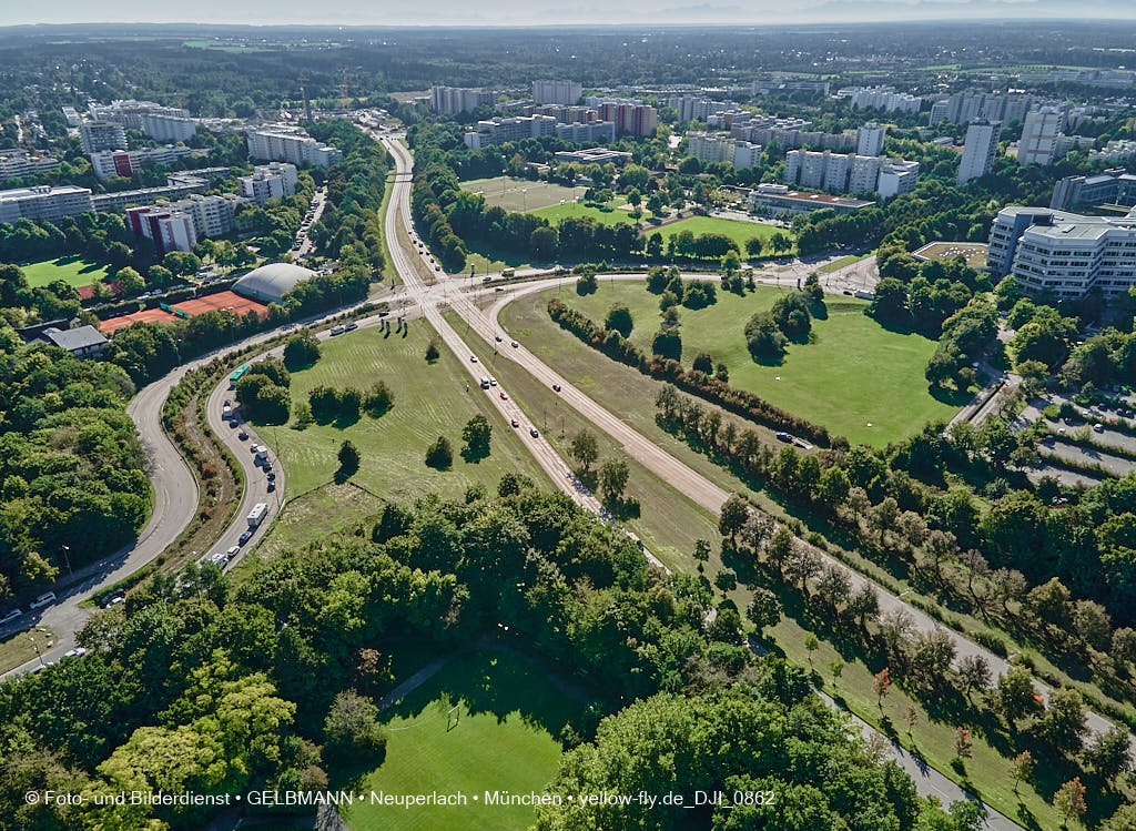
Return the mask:
<svg viewBox="0 0 1136 831"><path fill-rule="evenodd" d="M339 468L336 454L350 439L362 456L352 482L384 499L411 500L436 492L444 498L461 496L481 483L496 492L501 476L519 471L543 481L520 441L501 422L445 347L441 359L429 365L426 346L434 331L425 321L411 321L410 334L384 336L378 329L361 329L324 343L315 366L292 373L292 400L306 401L319 384L336 389L357 387L366 392L383 380L394 393L394 407L382 418L361 415L354 424L312 424L307 430L291 426L261 427L260 434L279 454L287 473L287 496L292 498L332 481ZM493 425L488 458L469 463L461 458L461 429L474 415L483 414ZM453 467L436 471L425 464L426 448L445 435L453 446Z"/></svg>

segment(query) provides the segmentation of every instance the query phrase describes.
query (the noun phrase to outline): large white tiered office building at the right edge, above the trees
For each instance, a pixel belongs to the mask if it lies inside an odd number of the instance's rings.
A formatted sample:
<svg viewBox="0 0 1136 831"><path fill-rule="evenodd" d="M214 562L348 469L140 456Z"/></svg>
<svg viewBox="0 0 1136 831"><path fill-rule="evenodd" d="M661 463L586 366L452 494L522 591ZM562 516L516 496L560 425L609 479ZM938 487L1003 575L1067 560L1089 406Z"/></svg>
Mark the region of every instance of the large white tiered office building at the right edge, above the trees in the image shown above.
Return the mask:
<svg viewBox="0 0 1136 831"><path fill-rule="evenodd" d="M1026 294L1121 294L1136 286L1136 216L1003 208L991 226L986 265L995 280L1013 274Z"/></svg>

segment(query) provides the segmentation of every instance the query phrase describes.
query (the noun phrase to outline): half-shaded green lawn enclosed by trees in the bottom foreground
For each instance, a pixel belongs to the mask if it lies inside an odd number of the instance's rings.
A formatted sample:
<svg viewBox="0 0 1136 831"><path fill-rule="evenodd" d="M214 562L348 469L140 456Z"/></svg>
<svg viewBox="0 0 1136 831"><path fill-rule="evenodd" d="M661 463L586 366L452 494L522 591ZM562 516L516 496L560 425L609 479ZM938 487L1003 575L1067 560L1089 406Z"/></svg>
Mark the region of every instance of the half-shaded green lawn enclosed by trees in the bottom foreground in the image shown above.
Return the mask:
<svg viewBox="0 0 1136 831"><path fill-rule="evenodd" d="M449 713L456 705L454 726ZM533 808L486 807L484 792L542 791L560 761L556 737L577 712L575 701L519 658L491 651L459 656L392 707L386 758L366 775L360 792L436 790L465 793L468 804L411 809L356 804L344 820L354 831L524 831Z"/></svg>

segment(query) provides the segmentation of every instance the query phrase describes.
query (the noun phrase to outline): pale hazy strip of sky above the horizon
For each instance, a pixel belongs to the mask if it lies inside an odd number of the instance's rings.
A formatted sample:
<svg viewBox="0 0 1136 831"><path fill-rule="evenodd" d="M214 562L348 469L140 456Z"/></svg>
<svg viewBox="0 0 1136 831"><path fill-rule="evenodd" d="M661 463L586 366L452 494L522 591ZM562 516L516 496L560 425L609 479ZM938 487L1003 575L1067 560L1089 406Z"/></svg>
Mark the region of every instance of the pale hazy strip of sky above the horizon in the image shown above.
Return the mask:
<svg viewBox="0 0 1136 831"><path fill-rule="evenodd" d="M193 18L187 17L189 11ZM97 15L97 16L95 16ZM1136 0L0 0L0 25L214 23L317 25L780 24L974 18L1136 19Z"/></svg>

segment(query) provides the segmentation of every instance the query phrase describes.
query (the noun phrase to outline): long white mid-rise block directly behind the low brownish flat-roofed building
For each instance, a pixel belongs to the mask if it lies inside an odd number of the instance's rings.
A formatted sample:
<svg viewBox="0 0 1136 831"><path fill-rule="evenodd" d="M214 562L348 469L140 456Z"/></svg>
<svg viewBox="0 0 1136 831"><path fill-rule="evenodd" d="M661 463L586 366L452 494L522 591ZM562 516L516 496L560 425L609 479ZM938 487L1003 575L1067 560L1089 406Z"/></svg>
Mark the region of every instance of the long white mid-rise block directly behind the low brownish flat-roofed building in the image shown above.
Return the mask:
<svg viewBox="0 0 1136 831"><path fill-rule="evenodd" d="M790 150L785 153L786 184L830 193L879 193L891 199L914 190L919 163L882 156Z"/></svg>

